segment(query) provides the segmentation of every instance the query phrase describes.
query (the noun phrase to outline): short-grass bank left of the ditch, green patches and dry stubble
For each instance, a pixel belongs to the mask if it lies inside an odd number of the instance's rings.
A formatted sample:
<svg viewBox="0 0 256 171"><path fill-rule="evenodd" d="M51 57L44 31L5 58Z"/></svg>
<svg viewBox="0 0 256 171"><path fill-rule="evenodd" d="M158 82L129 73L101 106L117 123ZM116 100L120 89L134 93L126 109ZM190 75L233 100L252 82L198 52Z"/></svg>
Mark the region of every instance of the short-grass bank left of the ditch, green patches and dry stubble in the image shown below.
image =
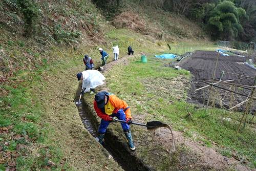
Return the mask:
<svg viewBox="0 0 256 171"><path fill-rule="evenodd" d="M84 130L73 102L78 86L74 73L82 69L74 66L81 66L80 57L57 49L49 55L59 60L34 71L19 71L15 82L4 85L10 93L1 98L0 125L8 132L1 134L0 169L11 165L11 156L17 157L17 170L102 170L105 166L121 170Z"/></svg>

